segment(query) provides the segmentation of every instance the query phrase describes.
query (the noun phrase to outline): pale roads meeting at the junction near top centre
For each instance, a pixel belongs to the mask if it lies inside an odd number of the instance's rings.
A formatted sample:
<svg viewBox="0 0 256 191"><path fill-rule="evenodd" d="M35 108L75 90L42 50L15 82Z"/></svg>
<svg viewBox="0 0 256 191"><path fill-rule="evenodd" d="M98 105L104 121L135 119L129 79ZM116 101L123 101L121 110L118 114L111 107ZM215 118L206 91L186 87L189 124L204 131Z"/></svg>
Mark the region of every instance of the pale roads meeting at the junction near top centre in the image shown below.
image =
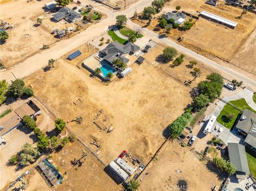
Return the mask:
<svg viewBox="0 0 256 191"><path fill-rule="evenodd" d="M102 31L107 30L108 26L115 23L116 15L125 14L127 18L129 18L133 15L135 10L141 12L145 6L149 6L150 4L151 0L141 0L137 3L134 3L132 6L130 6L128 9L124 11L116 12L111 12L108 9L106 9L106 7L100 6L100 10L108 15L107 19L97 24L93 24L91 27L87 28L86 30L82 31L80 34L77 34L72 38L61 40L60 42L54 44L51 48L43 52L40 52L36 55L33 55L29 57L27 60L23 61L22 63L15 65L14 68L7 70L5 72L1 72L0 79L6 79L7 81L10 81L14 80L14 76L17 78L23 78L31 73L34 73L37 70L42 69L43 67L45 67L49 59L59 59L63 54L68 53L71 49L75 49L76 47L81 46L87 40L90 40L93 37L101 34ZM127 22L127 25L131 26L133 29L141 28L137 24L133 23L131 20ZM250 86L256 87L255 79L249 78L233 69L224 67L223 65L220 65L210 59L207 59L206 57L199 55L191 51L190 49L175 43L170 39L159 39L158 35L155 34L153 31L143 29L143 35L153 39L154 41L160 41L161 43L172 46L176 48L179 52L185 53L191 57L195 57L195 59L204 62L205 64L221 71L222 73L228 73L230 76L238 80L242 80Z"/></svg>

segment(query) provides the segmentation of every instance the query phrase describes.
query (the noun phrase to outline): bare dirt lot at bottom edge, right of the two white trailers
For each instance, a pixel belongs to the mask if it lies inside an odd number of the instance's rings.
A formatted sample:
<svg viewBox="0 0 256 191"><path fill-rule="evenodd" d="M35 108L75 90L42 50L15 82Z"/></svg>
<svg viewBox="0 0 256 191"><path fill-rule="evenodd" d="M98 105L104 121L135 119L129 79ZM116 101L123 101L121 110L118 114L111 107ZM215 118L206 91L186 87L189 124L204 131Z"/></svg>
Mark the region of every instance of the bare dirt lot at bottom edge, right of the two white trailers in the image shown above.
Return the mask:
<svg viewBox="0 0 256 191"><path fill-rule="evenodd" d="M213 185L220 186L221 180L212 171L212 165L197 157L189 147L181 147L177 140L166 143L157 161L140 177L143 180L140 190L179 190L179 180L187 181L187 190L211 190Z"/></svg>

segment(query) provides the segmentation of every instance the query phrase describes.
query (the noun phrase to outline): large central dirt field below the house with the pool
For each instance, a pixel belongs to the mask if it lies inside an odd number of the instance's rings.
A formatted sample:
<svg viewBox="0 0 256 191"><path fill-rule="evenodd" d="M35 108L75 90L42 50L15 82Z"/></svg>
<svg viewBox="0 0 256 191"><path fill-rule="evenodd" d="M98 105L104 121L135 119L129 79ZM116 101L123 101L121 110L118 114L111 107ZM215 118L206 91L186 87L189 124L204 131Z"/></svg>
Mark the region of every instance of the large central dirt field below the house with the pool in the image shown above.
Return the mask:
<svg viewBox="0 0 256 191"><path fill-rule="evenodd" d="M88 145L92 137L97 139L106 163L123 150L147 163L164 141L163 130L191 102L189 88L150 64L133 64L129 76L106 86L87 70L58 62L51 71L25 79L26 84L33 85L35 95L58 117L70 121L81 115L83 124L68 123L70 128ZM114 127L110 134L93 124L101 109Z"/></svg>

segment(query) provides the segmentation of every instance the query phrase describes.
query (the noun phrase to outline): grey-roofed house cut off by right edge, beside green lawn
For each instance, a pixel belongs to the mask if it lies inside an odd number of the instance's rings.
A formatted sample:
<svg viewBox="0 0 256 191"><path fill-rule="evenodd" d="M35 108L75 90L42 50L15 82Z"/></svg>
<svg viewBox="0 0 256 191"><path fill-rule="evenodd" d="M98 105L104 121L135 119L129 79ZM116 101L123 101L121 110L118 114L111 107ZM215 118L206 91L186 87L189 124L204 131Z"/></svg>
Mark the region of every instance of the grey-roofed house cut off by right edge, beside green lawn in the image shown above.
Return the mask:
<svg viewBox="0 0 256 191"><path fill-rule="evenodd" d="M244 143L249 147L256 148L256 113L245 109L241 118L236 124L236 128L241 130L241 134L246 136Z"/></svg>

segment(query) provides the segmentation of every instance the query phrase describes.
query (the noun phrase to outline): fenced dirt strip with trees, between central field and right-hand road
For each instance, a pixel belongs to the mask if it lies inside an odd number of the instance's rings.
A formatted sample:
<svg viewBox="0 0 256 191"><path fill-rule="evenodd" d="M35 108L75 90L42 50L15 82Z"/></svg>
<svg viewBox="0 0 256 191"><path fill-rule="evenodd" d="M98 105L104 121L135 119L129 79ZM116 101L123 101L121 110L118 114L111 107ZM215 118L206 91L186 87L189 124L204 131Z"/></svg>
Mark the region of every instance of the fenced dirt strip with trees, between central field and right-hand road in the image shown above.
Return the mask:
<svg viewBox="0 0 256 191"><path fill-rule="evenodd" d="M155 58L162 53L164 48L164 45L158 44L143 57L145 57L146 62L155 65L158 69L162 70L167 74L170 74L173 78L179 80L181 83L194 79L194 77L190 74L193 69L189 69L186 67L186 65L189 64L189 61L194 60L191 57L185 56L185 58L183 59L184 62L177 67L171 67L172 61L170 61L169 63L158 63L155 61ZM202 62L197 62L194 68L199 68L202 74L191 83L191 87L195 87L199 81L204 80L207 74L213 71L213 69L211 68L205 68Z"/></svg>

